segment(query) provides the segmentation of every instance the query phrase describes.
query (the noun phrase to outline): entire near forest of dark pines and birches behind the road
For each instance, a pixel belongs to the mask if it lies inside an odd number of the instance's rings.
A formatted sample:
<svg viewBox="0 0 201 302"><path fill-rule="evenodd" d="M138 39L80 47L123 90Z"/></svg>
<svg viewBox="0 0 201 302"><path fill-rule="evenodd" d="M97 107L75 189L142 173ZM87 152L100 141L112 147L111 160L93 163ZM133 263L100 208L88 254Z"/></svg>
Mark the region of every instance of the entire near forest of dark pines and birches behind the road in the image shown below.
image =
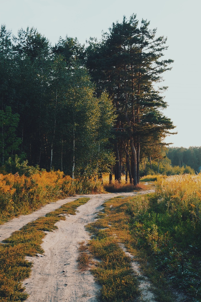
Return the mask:
<svg viewBox="0 0 201 302"><path fill-rule="evenodd" d="M132 15L87 45L66 36L55 46L36 29L0 31L0 164L18 154L76 177L110 171L139 182L139 164L174 128L156 88L171 59L166 38Z"/></svg>

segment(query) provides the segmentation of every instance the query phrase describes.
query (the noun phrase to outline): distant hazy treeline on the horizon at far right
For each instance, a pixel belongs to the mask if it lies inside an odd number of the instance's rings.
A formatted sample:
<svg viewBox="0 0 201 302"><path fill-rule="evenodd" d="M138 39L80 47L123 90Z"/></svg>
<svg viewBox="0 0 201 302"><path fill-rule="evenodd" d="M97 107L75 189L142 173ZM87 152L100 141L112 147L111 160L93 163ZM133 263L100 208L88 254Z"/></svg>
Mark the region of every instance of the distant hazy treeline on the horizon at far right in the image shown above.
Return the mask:
<svg viewBox="0 0 201 302"><path fill-rule="evenodd" d="M171 147L168 148L167 157L172 165L190 166L195 172L201 171L201 146L200 147Z"/></svg>

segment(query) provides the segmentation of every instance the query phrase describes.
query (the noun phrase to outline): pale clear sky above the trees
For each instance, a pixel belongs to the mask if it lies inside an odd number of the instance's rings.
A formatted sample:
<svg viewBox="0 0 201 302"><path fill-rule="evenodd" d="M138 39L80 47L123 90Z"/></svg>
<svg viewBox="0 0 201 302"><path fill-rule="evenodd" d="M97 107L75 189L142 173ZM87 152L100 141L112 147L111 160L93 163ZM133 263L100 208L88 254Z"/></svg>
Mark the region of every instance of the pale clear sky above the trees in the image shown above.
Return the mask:
<svg viewBox="0 0 201 302"><path fill-rule="evenodd" d="M150 21L157 35L168 37L165 58L174 59L164 74L168 109L164 114L176 125L177 135L166 138L172 146L201 146L200 1L196 0L0 0L0 23L17 34L21 27L35 27L54 45L59 37L101 38L113 22L128 19Z"/></svg>

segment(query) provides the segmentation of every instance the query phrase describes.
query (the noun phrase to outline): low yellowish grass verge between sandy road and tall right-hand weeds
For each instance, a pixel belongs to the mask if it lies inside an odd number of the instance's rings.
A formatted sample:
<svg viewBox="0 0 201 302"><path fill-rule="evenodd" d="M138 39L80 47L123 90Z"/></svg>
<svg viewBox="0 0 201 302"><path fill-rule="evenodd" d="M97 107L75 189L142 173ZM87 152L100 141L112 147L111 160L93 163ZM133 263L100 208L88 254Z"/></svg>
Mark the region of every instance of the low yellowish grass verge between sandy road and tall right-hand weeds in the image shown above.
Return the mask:
<svg viewBox="0 0 201 302"><path fill-rule="evenodd" d="M104 203L104 214L100 213L99 220L88 224L86 229L94 238L88 243L88 250L93 257L99 259L92 266L91 271L102 285L100 300L103 302L133 301L139 295L138 281L131 268L131 259L123 252L119 239L114 231L121 229L122 223L119 216L119 229L108 227L109 223L116 223L112 218L111 203L118 203L122 198L114 198ZM110 215L108 216L108 213Z"/></svg>

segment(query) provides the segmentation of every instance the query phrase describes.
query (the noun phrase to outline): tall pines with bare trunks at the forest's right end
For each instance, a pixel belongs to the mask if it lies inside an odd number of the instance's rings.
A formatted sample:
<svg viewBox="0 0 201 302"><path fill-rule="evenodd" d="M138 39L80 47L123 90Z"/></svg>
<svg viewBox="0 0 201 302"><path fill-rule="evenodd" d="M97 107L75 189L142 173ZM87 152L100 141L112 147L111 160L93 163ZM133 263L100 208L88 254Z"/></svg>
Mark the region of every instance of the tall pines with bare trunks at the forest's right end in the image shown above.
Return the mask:
<svg viewBox="0 0 201 302"><path fill-rule="evenodd" d="M156 37L156 29L151 30L146 20L139 23L134 14L128 20L124 16L100 42L90 39L86 49L86 64L97 94L106 90L116 107L111 140L116 155L115 180L121 181L121 154L126 148L134 185L139 182L139 153L146 155L162 145L168 130L174 129L160 111L167 107L161 95L167 87L155 88L173 62L162 59L167 39Z"/></svg>

